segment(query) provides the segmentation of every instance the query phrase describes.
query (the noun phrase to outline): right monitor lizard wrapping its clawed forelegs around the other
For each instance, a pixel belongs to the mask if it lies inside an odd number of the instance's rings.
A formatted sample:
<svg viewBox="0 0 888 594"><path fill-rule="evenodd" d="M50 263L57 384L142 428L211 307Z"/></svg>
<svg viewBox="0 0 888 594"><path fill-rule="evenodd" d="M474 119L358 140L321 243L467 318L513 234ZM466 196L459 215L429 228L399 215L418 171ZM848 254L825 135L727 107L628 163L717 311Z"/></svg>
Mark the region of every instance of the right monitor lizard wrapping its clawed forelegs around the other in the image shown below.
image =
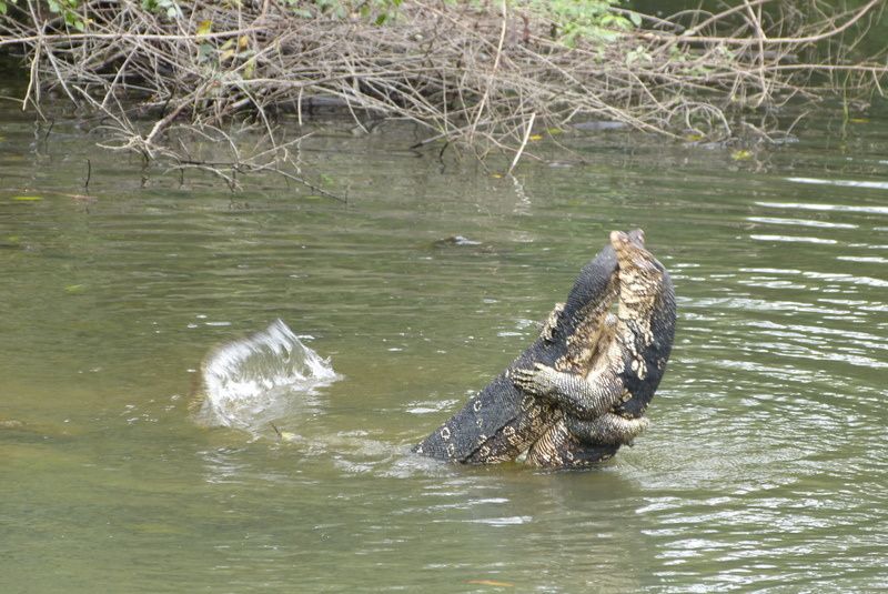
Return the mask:
<svg viewBox="0 0 888 594"><path fill-rule="evenodd" d="M619 305L616 319L603 324L594 358L515 373L523 391L564 413L531 446L532 465L607 460L647 427L642 415L663 377L675 333L674 290L642 241L616 231L610 241L619 262Z"/></svg>

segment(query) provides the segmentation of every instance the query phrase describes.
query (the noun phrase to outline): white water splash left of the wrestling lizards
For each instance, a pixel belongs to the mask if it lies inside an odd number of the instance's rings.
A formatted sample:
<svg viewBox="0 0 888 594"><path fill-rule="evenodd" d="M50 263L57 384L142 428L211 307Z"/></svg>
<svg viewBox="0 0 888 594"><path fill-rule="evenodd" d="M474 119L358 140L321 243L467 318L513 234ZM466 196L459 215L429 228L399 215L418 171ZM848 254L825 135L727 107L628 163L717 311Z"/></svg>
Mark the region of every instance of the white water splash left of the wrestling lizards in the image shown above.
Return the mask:
<svg viewBox="0 0 888 594"><path fill-rule="evenodd" d="M204 400L196 421L254 435L276 419L316 409L312 396L317 389L340 379L330 360L305 346L281 320L212 352L202 373Z"/></svg>

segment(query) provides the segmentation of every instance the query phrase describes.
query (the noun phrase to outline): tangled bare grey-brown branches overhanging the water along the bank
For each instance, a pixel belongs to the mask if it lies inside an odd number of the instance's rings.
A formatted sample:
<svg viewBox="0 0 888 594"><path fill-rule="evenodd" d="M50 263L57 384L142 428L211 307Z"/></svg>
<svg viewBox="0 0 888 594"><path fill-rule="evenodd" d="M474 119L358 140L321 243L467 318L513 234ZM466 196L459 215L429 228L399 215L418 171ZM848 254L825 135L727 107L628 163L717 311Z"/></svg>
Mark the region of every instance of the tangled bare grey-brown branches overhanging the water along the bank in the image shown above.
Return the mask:
<svg viewBox="0 0 888 594"><path fill-rule="evenodd" d="M558 12L563 2L491 1L406 0L380 18L362 13L367 2L323 11L317 0L57 0L52 12L18 0L0 20L0 46L30 64L26 107L40 110L56 88L105 115L107 147L212 167L175 133L186 125L229 141L243 170L292 159L275 115L292 110L302 123L319 102L360 127L415 122L417 145L508 151L514 167L534 125L581 119L673 138L767 138L780 131L781 105L881 93L888 70L885 53L851 57L882 0L849 10L744 0L668 18L605 4L585 28ZM244 118L269 143L249 155L222 131Z"/></svg>

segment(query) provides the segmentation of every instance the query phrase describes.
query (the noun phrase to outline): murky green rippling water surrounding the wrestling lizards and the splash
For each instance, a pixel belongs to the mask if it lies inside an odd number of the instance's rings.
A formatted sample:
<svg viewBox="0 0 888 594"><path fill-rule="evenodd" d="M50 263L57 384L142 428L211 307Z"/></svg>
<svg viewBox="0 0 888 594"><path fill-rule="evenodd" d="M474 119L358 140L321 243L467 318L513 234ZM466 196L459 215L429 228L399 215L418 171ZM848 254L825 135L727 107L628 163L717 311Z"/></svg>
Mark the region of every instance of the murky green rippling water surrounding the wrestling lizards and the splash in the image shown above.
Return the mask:
<svg viewBox="0 0 888 594"><path fill-rule="evenodd" d="M3 592L888 587L885 118L748 161L609 132L515 179L321 129L302 159L343 205L142 187L72 123L0 115ZM630 226L679 306L636 445L410 455ZM286 440L195 423L201 360L275 319L341 377L290 395Z"/></svg>

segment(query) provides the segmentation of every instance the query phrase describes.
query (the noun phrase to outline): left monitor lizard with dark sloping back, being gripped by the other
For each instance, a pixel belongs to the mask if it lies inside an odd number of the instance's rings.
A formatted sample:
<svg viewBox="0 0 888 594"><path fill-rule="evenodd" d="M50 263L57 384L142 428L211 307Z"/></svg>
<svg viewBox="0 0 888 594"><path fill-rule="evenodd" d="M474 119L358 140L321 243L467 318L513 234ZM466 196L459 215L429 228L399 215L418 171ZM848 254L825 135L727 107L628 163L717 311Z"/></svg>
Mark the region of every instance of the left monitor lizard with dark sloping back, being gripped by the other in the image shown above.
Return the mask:
<svg viewBox="0 0 888 594"><path fill-rule="evenodd" d="M473 464L505 462L525 452L563 413L554 404L523 393L512 376L534 364L592 361L616 296L616 254L608 245L583 268L567 301L556 305L541 336L414 451Z"/></svg>

